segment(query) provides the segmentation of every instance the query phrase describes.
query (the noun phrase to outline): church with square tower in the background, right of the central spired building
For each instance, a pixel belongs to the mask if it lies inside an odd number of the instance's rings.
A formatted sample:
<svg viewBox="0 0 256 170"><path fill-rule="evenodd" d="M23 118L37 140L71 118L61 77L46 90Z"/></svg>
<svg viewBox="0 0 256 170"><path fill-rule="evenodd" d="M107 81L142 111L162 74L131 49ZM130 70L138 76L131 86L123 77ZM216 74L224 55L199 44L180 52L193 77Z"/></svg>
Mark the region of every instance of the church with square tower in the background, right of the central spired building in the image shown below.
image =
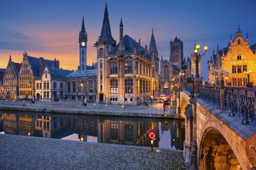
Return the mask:
<svg viewBox="0 0 256 170"><path fill-rule="evenodd" d="M191 77L191 60L183 58L183 42L177 37L170 40L169 60L161 57L160 61L160 91L169 92L179 88L179 84ZM181 74L181 75L180 75Z"/></svg>

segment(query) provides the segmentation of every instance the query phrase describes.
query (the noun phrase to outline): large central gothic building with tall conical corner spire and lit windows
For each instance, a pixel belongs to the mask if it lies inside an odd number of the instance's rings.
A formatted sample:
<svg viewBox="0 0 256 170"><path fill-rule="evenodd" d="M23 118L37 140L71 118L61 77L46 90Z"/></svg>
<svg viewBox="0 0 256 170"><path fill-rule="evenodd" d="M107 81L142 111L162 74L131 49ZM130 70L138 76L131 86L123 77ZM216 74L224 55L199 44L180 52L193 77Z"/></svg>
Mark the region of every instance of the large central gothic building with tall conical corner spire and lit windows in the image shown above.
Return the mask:
<svg viewBox="0 0 256 170"><path fill-rule="evenodd" d="M129 35L123 36L122 18L119 43L112 37L105 5L97 48L97 102L137 105L158 94L159 58L152 30L149 50Z"/></svg>

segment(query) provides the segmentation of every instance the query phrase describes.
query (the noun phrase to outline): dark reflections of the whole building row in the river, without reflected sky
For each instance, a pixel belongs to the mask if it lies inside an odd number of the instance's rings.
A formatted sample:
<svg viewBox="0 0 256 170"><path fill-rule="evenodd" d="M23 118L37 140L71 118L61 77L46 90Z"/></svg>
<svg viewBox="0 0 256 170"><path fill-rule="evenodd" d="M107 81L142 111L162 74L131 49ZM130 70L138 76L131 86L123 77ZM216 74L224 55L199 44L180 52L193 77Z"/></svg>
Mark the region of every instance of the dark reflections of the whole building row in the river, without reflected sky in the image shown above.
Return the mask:
<svg viewBox="0 0 256 170"><path fill-rule="evenodd" d="M1 121L2 120L2 121ZM93 116L57 117L48 115L0 114L0 126L6 134L38 136L48 138L63 138L77 134L80 141L87 141L88 136L97 137L98 143L114 143L151 147L148 131L156 131L154 147L159 147L159 123L117 120L116 118L102 119ZM165 125L164 125L165 126ZM172 139L181 140L178 131L182 125L178 122L167 124L172 129ZM1 127L0 127L1 128ZM161 129L162 127L161 124ZM184 128L183 128L184 129ZM173 137L173 135L175 137ZM177 136L177 137L176 137ZM176 146L176 141L172 145ZM182 144L183 145L183 144ZM179 147L177 148L179 149Z"/></svg>

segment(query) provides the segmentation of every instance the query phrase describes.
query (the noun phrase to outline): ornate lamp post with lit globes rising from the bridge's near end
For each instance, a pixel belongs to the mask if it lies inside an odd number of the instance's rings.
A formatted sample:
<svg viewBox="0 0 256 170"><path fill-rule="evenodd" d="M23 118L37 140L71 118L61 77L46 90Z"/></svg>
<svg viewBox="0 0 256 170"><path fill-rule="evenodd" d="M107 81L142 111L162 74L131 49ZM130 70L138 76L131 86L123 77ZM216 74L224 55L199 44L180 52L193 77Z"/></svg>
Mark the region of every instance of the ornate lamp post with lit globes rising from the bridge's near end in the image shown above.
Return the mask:
<svg viewBox="0 0 256 170"><path fill-rule="evenodd" d="M202 84L202 79L199 78L199 59L204 56L208 50L208 46L204 46L204 54L203 55L200 55L199 54L199 48L200 48L200 45L197 44L195 46L195 55L196 55L196 78L194 79L194 96L196 93L199 93L199 85Z"/></svg>

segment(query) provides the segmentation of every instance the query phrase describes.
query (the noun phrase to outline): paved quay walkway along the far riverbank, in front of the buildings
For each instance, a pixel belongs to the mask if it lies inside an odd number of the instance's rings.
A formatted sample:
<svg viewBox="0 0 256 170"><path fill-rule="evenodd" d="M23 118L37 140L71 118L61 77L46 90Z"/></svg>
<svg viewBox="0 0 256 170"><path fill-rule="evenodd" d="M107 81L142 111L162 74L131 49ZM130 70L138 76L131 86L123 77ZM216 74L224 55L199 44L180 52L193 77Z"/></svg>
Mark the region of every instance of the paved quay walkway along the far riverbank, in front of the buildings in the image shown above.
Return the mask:
<svg viewBox="0 0 256 170"><path fill-rule="evenodd" d="M131 116L131 117L152 117L152 118L176 118L176 106L167 105L164 111L163 103L154 101L151 104L139 106L123 106L87 103L82 106L81 102L43 102L36 101L31 104L28 101L0 101L0 109L31 111L31 112L50 112L68 114L91 114L91 115L110 115L110 116Z"/></svg>

